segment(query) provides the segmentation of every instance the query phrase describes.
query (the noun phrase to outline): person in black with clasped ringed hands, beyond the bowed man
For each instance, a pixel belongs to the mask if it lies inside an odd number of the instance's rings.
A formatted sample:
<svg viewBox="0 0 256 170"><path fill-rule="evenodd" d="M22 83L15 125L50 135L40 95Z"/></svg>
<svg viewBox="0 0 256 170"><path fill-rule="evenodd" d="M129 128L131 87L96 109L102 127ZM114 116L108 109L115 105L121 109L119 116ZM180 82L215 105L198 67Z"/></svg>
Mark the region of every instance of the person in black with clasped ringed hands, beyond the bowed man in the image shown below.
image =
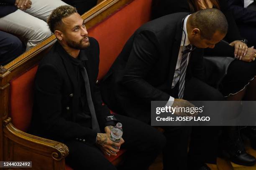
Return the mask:
<svg viewBox="0 0 256 170"><path fill-rule="evenodd" d="M256 100L256 50L253 47L247 49L247 45L242 42L241 37L233 14L228 8L226 0L161 0L159 7L155 9L155 17L161 17L170 13L190 12L205 9L217 8L220 9L228 20L228 33L224 40L226 42L219 42L214 48L205 49L204 54L207 56L230 56L235 60L228 61L227 75L223 78L219 85L220 92L223 93L226 100ZM206 73L208 72L208 65L205 63ZM215 80L211 80L215 81ZM205 77L205 82L209 83ZM210 84L210 83L209 83ZM211 85L211 84L210 84ZM240 106L236 106L240 107ZM237 108L237 110L240 110ZM240 128L239 127L224 127L223 128L226 139L221 140L223 146L222 150L227 153L230 160L241 165L254 165L256 159L246 153L243 146Z"/></svg>

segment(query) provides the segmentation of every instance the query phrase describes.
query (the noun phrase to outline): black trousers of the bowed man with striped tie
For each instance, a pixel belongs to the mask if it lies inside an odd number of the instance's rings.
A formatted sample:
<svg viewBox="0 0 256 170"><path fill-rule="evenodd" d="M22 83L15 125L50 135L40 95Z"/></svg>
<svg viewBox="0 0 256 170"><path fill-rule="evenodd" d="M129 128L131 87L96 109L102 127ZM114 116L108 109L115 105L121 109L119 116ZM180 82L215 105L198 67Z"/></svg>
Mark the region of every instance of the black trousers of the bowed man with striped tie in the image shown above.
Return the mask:
<svg viewBox="0 0 256 170"><path fill-rule="evenodd" d="M179 84L171 92L177 98ZM189 101L219 101L224 100L223 95L205 82L192 77L185 81L184 100ZM164 135L167 140L163 150L164 170L193 170L203 163L216 163L218 126L165 126ZM189 152L187 152L190 138Z"/></svg>

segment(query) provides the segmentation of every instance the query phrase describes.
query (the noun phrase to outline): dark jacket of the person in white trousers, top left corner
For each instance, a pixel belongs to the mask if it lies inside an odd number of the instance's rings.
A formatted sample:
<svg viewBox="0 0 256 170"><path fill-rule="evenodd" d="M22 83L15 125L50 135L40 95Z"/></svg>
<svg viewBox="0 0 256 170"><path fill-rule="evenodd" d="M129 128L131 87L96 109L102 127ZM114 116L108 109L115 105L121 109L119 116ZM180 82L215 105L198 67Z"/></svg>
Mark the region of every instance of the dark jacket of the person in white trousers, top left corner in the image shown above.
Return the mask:
<svg viewBox="0 0 256 170"><path fill-rule="evenodd" d="M14 3L15 0L0 0L0 18L13 13L18 9Z"/></svg>

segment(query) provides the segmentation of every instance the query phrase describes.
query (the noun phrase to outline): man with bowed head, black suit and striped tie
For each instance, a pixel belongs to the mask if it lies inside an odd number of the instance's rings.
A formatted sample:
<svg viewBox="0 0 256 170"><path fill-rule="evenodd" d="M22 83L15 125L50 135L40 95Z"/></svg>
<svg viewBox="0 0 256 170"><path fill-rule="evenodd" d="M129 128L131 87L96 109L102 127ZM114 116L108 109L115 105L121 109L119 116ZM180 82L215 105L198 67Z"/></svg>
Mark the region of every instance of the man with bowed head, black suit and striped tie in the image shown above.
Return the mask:
<svg viewBox="0 0 256 170"><path fill-rule="evenodd" d="M102 82L104 102L117 113L149 124L151 101L169 100L173 106L190 107L187 100L224 100L218 90L201 81L200 48L213 48L227 30L225 16L216 9L175 13L146 23L126 42ZM164 169L187 169L190 128L162 128L167 138ZM207 170L205 162L215 163L217 135L217 128L193 128L189 170Z"/></svg>

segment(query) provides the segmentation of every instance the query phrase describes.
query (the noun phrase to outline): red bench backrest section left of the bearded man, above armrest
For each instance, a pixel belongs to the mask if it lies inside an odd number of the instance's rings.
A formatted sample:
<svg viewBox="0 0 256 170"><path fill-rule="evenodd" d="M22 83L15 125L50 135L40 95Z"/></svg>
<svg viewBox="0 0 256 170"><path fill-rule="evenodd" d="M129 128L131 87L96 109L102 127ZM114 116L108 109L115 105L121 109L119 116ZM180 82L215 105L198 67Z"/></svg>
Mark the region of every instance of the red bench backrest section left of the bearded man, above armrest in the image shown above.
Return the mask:
<svg viewBox="0 0 256 170"><path fill-rule="evenodd" d="M33 109L33 85L38 66L10 81L10 116L13 125L26 132Z"/></svg>

